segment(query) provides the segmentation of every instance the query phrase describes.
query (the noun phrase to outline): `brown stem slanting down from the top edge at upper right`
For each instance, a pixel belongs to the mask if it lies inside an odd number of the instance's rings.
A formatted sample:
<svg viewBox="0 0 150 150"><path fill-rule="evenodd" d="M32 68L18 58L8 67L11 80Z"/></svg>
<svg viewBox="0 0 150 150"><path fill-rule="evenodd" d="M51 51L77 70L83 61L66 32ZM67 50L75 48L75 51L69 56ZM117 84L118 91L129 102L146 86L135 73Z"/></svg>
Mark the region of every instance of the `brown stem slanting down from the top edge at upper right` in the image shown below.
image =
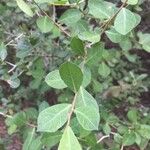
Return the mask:
<svg viewBox="0 0 150 150"><path fill-rule="evenodd" d="M114 18L118 15L118 13L122 10L122 8L124 8L124 7L126 6L127 1L128 1L128 0L126 0L126 1L120 6L120 8L118 9L118 11L117 11L105 24L103 24L103 25L101 26L101 28L104 27L104 29L102 30L101 35L104 34L104 32L106 31L106 29L108 28L108 26L110 25L110 23L114 20Z"/></svg>

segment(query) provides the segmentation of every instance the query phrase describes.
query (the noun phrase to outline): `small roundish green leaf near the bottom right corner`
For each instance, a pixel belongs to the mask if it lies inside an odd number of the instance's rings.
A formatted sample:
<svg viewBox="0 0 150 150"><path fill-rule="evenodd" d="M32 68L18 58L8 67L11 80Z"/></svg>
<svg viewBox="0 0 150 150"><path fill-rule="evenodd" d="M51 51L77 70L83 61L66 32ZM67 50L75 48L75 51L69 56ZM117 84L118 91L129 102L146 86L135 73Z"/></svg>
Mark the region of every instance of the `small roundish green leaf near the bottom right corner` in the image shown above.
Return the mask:
<svg viewBox="0 0 150 150"><path fill-rule="evenodd" d="M130 146L130 145L133 145L135 143L135 140L136 140L136 135L134 132L128 132L128 133L125 133L123 135L123 145L124 146Z"/></svg>

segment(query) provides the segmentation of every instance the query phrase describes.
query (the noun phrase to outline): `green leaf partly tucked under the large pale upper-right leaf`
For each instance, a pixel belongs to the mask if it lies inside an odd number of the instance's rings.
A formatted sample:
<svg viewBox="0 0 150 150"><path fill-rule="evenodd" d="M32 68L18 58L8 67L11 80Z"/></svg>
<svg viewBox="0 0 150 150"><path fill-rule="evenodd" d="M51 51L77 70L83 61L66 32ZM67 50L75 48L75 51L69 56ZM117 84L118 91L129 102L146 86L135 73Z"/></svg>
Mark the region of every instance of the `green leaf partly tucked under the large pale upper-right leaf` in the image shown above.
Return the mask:
<svg viewBox="0 0 150 150"><path fill-rule="evenodd" d="M108 38L114 43L119 43L125 38L122 34L118 33L114 28L107 30L105 33L108 36Z"/></svg>

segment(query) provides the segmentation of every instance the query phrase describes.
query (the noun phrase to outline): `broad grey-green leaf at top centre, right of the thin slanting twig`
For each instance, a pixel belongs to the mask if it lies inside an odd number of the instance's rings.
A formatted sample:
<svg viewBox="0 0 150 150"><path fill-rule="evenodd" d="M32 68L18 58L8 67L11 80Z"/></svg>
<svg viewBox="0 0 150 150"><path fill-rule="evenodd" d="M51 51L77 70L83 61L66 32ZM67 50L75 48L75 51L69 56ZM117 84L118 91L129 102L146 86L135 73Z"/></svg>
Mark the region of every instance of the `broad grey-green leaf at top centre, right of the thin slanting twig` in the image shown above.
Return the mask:
<svg viewBox="0 0 150 150"><path fill-rule="evenodd" d="M68 9L60 17L59 21L68 26L73 26L81 19L81 12L77 9Z"/></svg>

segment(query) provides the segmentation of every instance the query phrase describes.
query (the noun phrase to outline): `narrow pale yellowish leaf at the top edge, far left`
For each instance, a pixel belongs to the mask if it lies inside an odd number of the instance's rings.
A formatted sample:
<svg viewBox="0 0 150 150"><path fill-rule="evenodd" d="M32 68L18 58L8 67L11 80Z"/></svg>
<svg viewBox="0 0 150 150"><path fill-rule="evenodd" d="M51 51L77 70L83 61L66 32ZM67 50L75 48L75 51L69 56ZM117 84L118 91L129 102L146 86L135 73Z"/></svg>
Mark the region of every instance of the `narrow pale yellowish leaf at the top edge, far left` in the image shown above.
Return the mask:
<svg viewBox="0 0 150 150"><path fill-rule="evenodd" d="M18 7L28 16L33 17L33 12L30 6L25 3L23 0L16 0Z"/></svg>

